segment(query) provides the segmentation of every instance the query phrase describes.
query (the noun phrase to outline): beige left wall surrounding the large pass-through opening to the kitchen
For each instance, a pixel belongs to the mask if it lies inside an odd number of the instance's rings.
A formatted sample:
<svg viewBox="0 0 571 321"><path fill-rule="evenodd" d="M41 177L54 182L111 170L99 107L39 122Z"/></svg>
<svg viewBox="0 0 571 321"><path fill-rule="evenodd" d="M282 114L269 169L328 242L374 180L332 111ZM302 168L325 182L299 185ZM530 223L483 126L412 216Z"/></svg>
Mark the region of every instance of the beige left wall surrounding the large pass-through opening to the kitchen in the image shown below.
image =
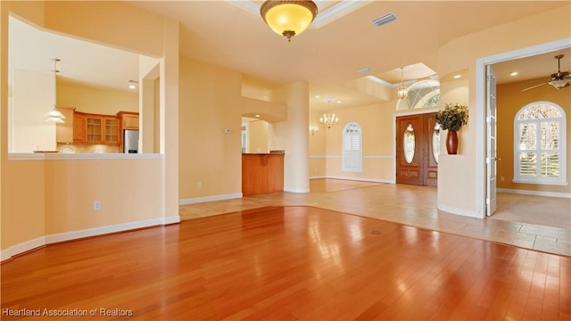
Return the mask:
<svg viewBox="0 0 571 321"><path fill-rule="evenodd" d="M178 119L178 22L163 20L121 2L3 1L0 8L2 259L46 240L49 243L66 237L178 222L178 126L172 125ZM170 126L161 124L163 155L109 158L12 154L9 161L4 144L9 137L5 90L8 10L40 28L161 57L161 93L166 91L161 95L161 119L171 122ZM163 51L169 56L163 57ZM176 177L174 184L172 176ZM102 210L93 210L94 201L102 202Z"/></svg>

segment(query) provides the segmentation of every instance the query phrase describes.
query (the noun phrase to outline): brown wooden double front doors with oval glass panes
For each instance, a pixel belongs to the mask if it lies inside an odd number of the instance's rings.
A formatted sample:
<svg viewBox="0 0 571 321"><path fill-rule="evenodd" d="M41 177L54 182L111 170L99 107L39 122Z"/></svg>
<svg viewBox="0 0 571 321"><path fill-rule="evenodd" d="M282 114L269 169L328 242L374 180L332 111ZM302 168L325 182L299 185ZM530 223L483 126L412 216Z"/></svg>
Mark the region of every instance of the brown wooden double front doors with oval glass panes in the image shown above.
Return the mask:
<svg viewBox="0 0 571 321"><path fill-rule="evenodd" d="M436 186L440 126L435 112L396 118L396 183Z"/></svg>

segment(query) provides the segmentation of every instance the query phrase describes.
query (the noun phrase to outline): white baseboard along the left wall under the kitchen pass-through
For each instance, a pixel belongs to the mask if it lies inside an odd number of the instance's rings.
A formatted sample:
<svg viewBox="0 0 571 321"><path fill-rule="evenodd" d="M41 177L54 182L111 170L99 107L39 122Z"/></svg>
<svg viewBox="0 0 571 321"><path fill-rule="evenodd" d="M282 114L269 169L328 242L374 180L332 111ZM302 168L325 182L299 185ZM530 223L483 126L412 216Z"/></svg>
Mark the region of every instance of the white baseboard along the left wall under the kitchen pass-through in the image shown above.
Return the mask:
<svg viewBox="0 0 571 321"><path fill-rule="evenodd" d="M168 218L151 218L136 222L121 223L112 226L101 226L94 228L87 228L79 231L71 231L65 233L58 233L54 235L46 235L38 237L36 239L12 245L4 251L0 251L0 261L4 259L10 259L14 255L21 254L25 251L31 251L37 249L38 247L58 243L63 241L77 240L90 236L106 235L117 232L125 232L132 229L144 228L150 226L164 226L168 224L174 224L180 222L180 217L168 217Z"/></svg>

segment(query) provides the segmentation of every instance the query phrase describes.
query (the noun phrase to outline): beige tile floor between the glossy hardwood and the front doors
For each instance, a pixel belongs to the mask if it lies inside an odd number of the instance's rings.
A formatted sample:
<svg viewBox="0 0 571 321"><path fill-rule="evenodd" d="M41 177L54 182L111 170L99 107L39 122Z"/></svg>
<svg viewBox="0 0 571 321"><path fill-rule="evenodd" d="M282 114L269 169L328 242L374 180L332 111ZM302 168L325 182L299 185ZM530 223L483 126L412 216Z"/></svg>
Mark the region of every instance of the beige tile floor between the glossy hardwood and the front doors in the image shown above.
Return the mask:
<svg viewBox="0 0 571 321"><path fill-rule="evenodd" d="M468 218L436 209L436 188L416 185L377 184L331 179L310 181L310 193L267 193L218 202L180 206L182 220L219 215L263 206L314 206L368 218L416 226L439 232L465 235L525 249L571 256L571 226L541 226L496 218ZM522 195L527 198L528 196ZM555 208L571 216L565 199L556 206L546 205L552 198L540 198L533 214L546 215ZM559 200L560 201L560 200ZM513 202L513 200L511 201ZM502 205L503 206L503 205ZM499 205L500 208L500 205ZM527 207L529 208L529 207ZM525 207L516 210L524 212ZM538 212L539 211L539 212ZM567 223L568 224L568 223Z"/></svg>

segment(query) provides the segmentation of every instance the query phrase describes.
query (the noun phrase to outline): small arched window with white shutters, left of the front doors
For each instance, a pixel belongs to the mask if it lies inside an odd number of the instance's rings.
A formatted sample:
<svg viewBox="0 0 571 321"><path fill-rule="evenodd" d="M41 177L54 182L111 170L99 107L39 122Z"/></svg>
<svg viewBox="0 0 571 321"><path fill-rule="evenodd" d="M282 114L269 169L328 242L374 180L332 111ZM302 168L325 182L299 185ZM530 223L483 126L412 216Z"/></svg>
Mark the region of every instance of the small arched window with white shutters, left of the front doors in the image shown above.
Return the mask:
<svg viewBox="0 0 571 321"><path fill-rule="evenodd" d="M343 128L343 171L363 170L362 136L357 123L349 123Z"/></svg>

